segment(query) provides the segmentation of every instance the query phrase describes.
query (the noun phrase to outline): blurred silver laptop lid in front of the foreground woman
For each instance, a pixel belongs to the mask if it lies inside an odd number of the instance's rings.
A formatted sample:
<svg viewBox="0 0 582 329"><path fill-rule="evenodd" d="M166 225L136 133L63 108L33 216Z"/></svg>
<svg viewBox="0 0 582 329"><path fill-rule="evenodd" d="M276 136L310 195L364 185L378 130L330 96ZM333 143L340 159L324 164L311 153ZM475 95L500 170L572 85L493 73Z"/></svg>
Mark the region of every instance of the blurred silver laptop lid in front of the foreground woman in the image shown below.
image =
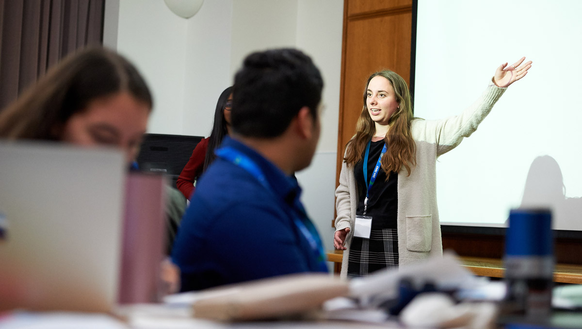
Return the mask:
<svg viewBox="0 0 582 329"><path fill-rule="evenodd" d="M0 310L110 311L124 193L119 151L0 142Z"/></svg>

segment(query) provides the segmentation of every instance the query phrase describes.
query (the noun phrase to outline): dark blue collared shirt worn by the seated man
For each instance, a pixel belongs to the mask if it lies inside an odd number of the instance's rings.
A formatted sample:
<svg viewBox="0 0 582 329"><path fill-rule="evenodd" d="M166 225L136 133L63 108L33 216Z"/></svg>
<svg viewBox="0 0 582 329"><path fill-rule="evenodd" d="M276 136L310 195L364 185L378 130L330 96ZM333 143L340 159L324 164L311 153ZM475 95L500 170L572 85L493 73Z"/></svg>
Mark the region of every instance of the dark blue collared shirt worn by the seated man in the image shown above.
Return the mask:
<svg viewBox="0 0 582 329"><path fill-rule="evenodd" d="M249 157L272 188L228 160L212 163L197 183L173 247L182 291L319 272L321 259L294 224L302 211L297 180L237 140L226 137L221 147Z"/></svg>

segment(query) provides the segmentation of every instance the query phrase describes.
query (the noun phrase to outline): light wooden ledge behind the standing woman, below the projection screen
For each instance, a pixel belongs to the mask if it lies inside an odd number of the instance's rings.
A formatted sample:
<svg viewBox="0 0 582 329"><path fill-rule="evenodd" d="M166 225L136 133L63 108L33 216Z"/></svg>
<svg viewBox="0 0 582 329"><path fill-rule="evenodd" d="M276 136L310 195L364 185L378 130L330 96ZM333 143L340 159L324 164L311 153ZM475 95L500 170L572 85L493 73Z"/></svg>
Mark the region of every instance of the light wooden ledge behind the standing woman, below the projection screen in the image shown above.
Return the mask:
<svg viewBox="0 0 582 329"><path fill-rule="evenodd" d="M343 251L328 251L327 256L329 262L335 263L335 272L338 272L338 268L342 263ZM460 256L459 258L467 269L478 276L503 277L503 272L505 272L501 259L465 256ZM556 264L553 281L558 283L582 284L582 265Z"/></svg>

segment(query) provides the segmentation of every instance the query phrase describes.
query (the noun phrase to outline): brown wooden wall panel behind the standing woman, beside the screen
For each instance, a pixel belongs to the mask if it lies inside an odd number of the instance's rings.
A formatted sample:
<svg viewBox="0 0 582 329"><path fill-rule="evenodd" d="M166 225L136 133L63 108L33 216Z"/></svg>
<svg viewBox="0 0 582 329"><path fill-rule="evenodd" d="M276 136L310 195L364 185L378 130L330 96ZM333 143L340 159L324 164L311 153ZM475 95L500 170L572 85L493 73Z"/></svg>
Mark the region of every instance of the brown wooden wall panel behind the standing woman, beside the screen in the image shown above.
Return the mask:
<svg viewBox="0 0 582 329"><path fill-rule="evenodd" d="M356 8L359 13L350 16L347 15L349 10L345 10L344 16L338 179L344 147L354 134L363 107L364 84L368 76L375 71L389 69L410 81L411 1L345 1L345 9ZM386 8L379 8L380 3ZM406 6L403 7L402 3Z"/></svg>

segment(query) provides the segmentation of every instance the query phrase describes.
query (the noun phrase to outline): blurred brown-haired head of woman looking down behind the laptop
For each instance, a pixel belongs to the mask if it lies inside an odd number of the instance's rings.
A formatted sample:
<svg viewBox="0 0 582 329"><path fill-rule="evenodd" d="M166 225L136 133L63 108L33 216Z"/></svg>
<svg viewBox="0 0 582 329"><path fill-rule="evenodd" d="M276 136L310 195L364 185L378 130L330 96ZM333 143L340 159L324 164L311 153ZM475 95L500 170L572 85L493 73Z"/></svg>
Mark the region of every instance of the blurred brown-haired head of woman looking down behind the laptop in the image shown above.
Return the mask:
<svg viewBox="0 0 582 329"><path fill-rule="evenodd" d="M80 50L0 113L0 138L110 145L137 156L152 109L137 69L111 50Z"/></svg>

